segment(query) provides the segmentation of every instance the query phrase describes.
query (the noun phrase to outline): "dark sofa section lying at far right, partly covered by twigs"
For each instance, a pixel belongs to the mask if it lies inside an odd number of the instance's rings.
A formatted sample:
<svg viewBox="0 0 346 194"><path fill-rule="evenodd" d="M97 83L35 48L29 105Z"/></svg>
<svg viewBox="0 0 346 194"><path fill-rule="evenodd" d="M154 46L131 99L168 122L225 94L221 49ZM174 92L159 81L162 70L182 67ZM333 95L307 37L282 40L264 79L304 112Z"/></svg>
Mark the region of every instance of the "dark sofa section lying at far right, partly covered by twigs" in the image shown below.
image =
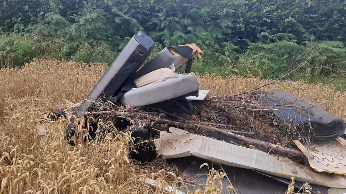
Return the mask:
<svg viewBox="0 0 346 194"><path fill-rule="evenodd" d="M263 106L273 109L273 113L294 126L303 137L328 140L345 132L345 121L325 110L311 105L284 91L273 89L270 92L254 91Z"/></svg>

